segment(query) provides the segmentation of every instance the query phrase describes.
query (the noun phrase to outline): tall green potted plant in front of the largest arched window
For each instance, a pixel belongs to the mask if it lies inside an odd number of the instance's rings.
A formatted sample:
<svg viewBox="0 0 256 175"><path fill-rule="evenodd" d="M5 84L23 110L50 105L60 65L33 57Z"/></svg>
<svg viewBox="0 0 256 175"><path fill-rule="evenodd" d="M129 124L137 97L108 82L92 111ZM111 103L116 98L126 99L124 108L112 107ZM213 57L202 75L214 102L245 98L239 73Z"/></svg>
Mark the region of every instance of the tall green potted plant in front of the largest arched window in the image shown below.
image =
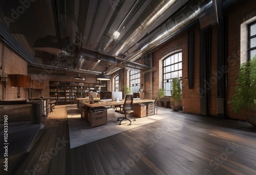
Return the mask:
<svg viewBox="0 0 256 175"><path fill-rule="evenodd" d="M174 78L172 83L172 91L170 95L172 96L171 107L174 111L179 111L179 103L181 100L181 82L179 78Z"/></svg>

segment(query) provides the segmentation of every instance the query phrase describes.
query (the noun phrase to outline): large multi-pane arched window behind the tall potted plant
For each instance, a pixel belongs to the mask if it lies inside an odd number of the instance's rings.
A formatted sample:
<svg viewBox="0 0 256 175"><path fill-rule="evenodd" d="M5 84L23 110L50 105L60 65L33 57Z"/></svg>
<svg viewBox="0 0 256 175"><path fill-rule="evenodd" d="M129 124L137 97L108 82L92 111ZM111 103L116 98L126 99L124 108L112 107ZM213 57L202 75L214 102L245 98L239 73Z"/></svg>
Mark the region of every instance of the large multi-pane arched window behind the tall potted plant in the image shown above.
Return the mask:
<svg viewBox="0 0 256 175"><path fill-rule="evenodd" d="M165 95L170 96L173 78L182 79L182 53L169 55L163 60L163 89Z"/></svg>

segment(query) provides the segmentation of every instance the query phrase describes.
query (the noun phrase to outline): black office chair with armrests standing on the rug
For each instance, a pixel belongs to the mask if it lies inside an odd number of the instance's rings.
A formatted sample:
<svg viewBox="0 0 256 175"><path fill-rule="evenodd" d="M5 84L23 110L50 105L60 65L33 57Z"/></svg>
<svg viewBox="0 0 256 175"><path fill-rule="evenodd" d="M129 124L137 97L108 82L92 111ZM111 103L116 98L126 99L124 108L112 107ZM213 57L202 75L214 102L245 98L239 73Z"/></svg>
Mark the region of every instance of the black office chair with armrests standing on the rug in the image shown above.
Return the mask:
<svg viewBox="0 0 256 175"><path fill-rule="evenodd" d="M119 110L117 108L119 108ZM123 105L119 106L117 108L116 108L115 112L118 112L120 114L124 114L124 117L118 117L117 118L117 120L121 119L119 125L122 124L121 122L123 120L129 120L130 121L129 125L131 125L132 121L129 118L127 118L126 115L127 114L131 114L131 113L134 112L133 111L133 95L126 95L125 96L125 101L124 101ZM135 118L133 118L133 120L136 121Z"/></svg>

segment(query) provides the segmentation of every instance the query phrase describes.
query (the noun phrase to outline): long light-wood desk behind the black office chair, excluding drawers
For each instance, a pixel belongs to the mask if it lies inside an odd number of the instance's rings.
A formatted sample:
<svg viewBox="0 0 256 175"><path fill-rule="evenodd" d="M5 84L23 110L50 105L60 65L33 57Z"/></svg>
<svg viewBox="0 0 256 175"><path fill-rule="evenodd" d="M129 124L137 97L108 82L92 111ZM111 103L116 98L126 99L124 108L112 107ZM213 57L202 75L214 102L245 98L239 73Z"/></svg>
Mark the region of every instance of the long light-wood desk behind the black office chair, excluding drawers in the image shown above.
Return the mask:
<svg viewBox="0 0 256 175"><path fill-rule="evenodd" d="M154 103L155 100L154 99L139 99L139 100L134 100L133 104L141 104L141 103ZM86 121L90 121L90 125L91 127L94 126L93 122L93 118L92 115L88 115L88 111L93 111L96 108L100 108L100 107L105 107L105 106L117 106L117 105L123 105L124 104L124 100L120 101L119 103L117 103L116 101L114 102L99 102L99 103L95 103L95 104L90 104L90 103L86 103L86 102L80 102L82 104L82 110L81 110L81 118L86 119ZM90 119L88 118L88 116L90 117Z"/></svg>

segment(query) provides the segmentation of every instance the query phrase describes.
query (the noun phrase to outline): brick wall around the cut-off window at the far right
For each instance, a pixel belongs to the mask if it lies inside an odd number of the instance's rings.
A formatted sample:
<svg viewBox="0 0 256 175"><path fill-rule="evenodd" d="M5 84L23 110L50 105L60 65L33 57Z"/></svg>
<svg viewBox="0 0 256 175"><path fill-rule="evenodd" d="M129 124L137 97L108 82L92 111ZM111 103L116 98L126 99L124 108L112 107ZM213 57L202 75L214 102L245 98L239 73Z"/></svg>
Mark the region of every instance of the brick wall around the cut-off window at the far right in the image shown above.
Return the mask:
<svg viewBox="0 0 256 175"><path fill-rule="evenodd" d="M239 1L233 5L228 12L228 50L227 50L227 102L230 101L234 88L236 87L236 79L240 68L240 36L241 24L249 18L256 15L255 1ZM246 119L246 115L234 115L231 111L231 105L226 103L227 117L233 119Z"/></svg>

